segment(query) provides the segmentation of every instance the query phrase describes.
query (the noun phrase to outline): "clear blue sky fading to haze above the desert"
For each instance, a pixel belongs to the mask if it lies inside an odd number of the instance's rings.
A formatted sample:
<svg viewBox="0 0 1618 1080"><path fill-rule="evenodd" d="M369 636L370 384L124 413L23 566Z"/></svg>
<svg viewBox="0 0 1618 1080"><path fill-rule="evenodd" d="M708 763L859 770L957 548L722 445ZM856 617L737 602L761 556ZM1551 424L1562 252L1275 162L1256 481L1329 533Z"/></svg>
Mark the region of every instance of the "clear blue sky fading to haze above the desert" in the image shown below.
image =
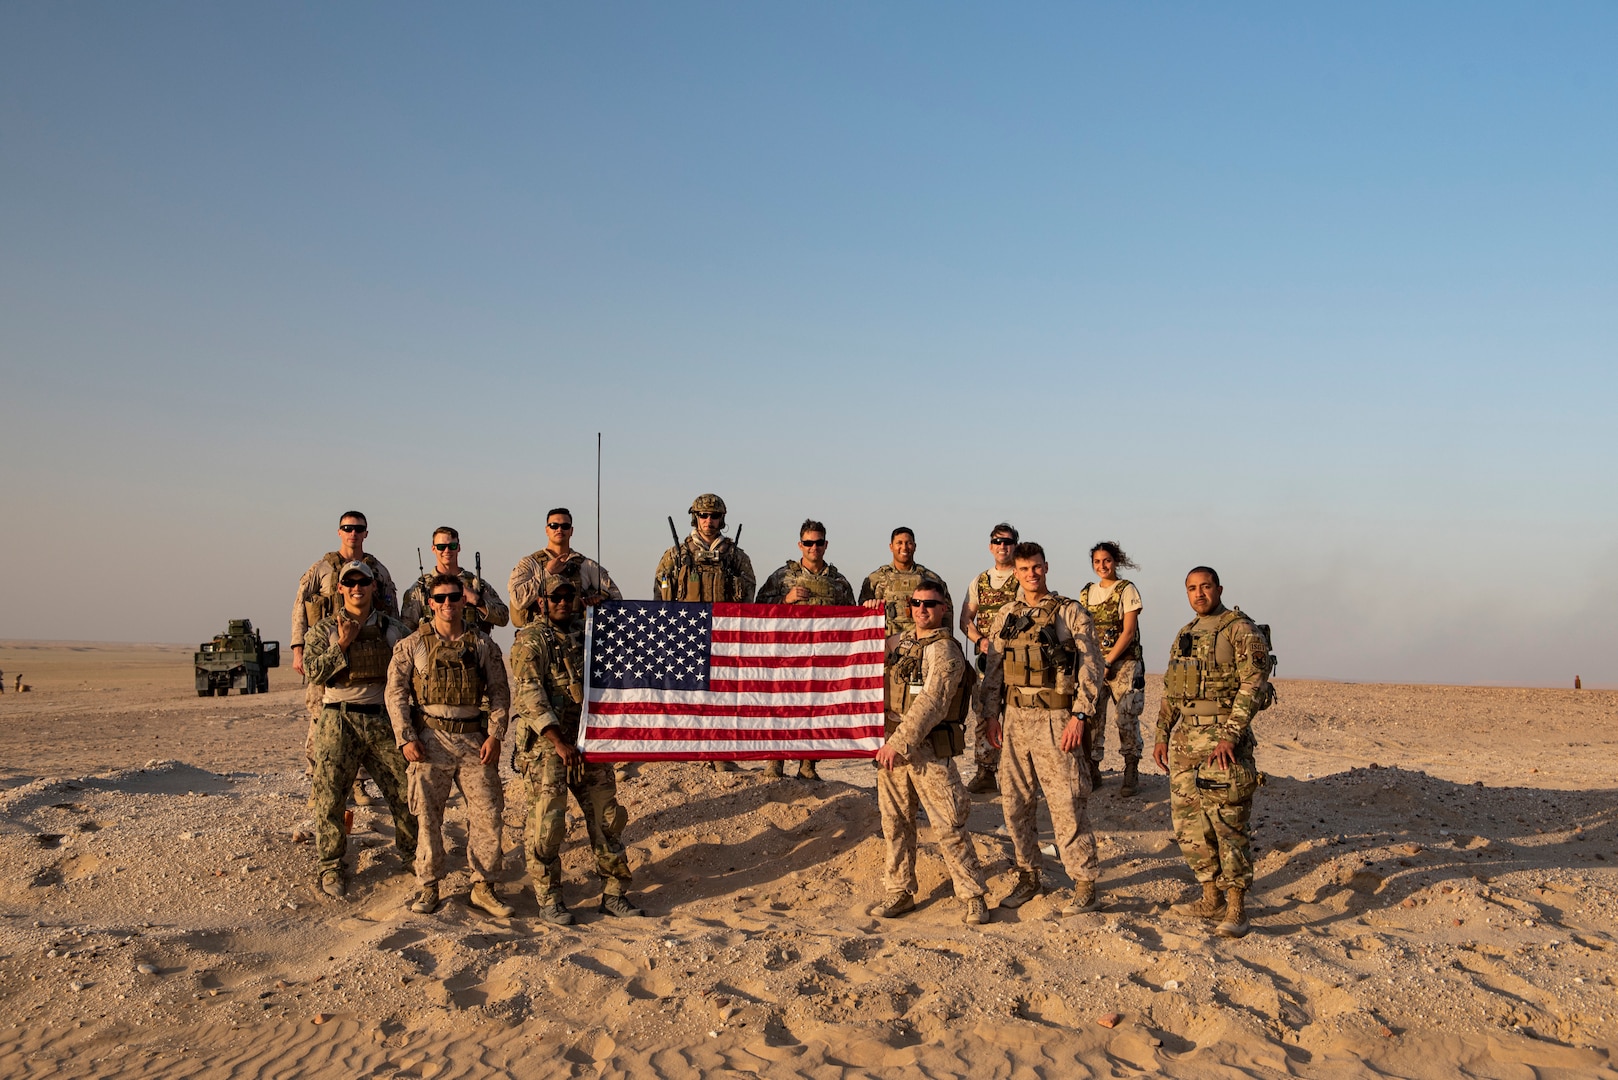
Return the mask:
<svg viewBox="0 0 1618 1080"><path fill-rule="evenodd" d="M0 6L0 636L285 636L337 513L646 596L718 491L1283 675L1618 685L1618 8ZM154 588L155 586L155 588Z"/></svg>

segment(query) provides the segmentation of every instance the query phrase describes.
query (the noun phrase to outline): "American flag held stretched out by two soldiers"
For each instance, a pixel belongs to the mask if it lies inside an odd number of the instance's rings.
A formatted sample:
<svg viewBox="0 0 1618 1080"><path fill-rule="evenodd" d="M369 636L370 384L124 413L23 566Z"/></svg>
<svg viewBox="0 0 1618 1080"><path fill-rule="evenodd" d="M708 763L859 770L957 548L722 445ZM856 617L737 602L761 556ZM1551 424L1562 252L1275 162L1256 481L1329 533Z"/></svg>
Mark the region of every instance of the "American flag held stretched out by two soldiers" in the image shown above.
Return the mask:
<svg viewBox="0 0 1618 1080"><path fill-rule="evenodd" d="M579 746L592 761L869 758L883 633L880 609L605 601Z"/></svg>

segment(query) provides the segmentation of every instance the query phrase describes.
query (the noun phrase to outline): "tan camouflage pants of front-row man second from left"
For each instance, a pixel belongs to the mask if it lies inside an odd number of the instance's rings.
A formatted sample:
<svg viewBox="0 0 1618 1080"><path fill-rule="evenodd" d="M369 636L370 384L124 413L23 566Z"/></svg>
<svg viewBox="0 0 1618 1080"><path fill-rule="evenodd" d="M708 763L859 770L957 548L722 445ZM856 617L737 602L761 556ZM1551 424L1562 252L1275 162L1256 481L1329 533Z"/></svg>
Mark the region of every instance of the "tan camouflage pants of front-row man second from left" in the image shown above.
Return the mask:
<svg viewBox="0 0 1618 1080"><path fill-rule="evenodd" d="M443 806L456 780L466 797L466 863L471 878L474 882L493 881L503 865L500 816L505 813L505 787L500 784L500 763L477 759L484 746L481 732L451 735L426 724L416 730L427 755L426 761L408 766L409 808L421 824L416 881L424 886L443 881Z"/></svg>

